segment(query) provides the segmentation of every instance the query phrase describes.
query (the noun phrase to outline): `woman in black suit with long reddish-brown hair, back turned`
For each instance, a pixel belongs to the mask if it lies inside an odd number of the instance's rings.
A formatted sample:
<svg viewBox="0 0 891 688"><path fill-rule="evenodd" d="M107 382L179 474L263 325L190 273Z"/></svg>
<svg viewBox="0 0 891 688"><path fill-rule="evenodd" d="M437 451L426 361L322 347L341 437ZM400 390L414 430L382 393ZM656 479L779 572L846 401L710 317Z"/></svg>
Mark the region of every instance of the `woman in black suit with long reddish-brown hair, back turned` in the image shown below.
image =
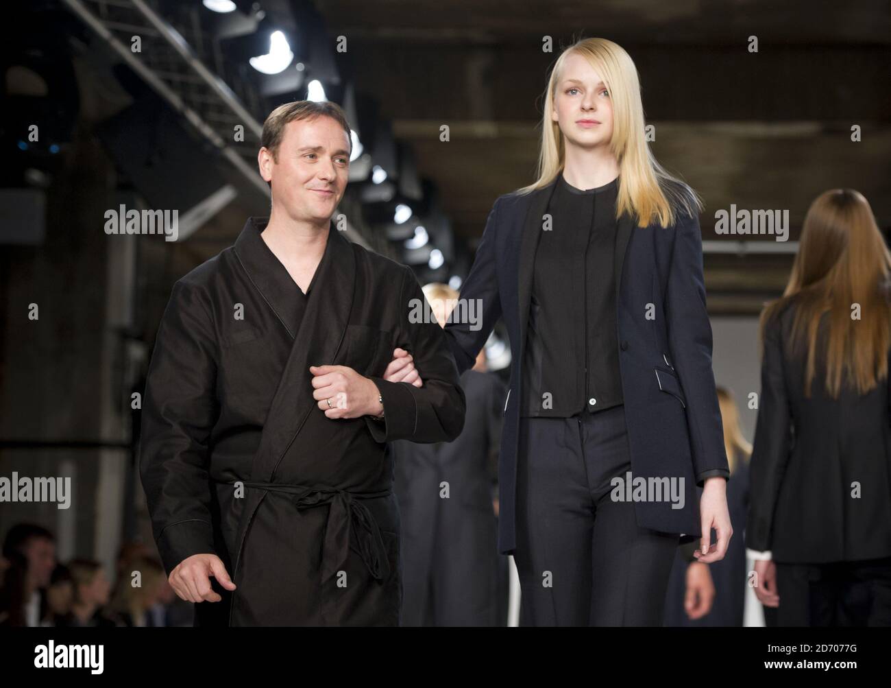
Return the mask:
<svg viewBox="0 0 891 688"><path fill-rule="evenodd" d="M834 189L762 314L746 545L769 626L891 625L889 277L869 202Z"/></svg>

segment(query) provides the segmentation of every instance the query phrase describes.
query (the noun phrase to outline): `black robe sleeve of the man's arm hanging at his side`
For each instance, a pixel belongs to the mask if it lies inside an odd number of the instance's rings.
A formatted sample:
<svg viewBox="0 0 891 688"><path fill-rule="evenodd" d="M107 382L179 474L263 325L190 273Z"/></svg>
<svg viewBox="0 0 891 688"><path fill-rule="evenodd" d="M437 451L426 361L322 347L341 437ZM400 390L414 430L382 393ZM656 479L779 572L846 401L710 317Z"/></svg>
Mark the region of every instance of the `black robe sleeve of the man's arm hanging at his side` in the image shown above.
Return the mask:
<svg viewBox="0 0 891 688"><path fill-rule="evenodd" d="M216 335L200 287L177 282L164 311L143 399L140 475L168 575L215 553L208 439L217 421Z"/></svg>

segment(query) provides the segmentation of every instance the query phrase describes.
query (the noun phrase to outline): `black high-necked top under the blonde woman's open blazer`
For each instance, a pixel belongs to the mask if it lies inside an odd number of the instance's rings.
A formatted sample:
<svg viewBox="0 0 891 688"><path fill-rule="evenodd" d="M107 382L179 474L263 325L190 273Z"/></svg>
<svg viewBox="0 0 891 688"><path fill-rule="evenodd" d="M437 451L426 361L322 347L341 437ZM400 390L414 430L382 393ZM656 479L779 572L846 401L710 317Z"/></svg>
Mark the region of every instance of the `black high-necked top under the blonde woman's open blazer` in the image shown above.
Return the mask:
<svg viewBox="0 0 891 688"><path fill-rule="evenodd" d="M520 414L568 418L621 405L616 326L617 179L557 180L535 251Z"/></svg>

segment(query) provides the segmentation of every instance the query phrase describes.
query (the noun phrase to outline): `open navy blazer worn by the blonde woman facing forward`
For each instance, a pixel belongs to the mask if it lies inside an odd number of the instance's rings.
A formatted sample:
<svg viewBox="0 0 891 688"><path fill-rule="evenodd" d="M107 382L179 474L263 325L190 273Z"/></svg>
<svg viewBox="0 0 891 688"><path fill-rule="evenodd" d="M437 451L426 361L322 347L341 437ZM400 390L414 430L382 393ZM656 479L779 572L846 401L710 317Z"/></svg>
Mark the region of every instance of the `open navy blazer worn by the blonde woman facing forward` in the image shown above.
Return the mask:
<svg viewBox="0 0 891 688"><path fill-rule="evenodd" d="M535 250L554 187L552 182L495 201L461 290L462 300L479 299L482 326L473 330L466 322L446 324L459 372L473 365L502 316L511 340L511 383L498 463L498 545L505 554L514 549L516 538L518 402L523 397ZM637 522L678 533L688 542L701 533L696 486L712 475L730 475L712 373L699 218L679 215L668 227L638 227L623 215L615 266L616 335L633 476L648 482L683 479L683 508L672 508L670 501L635 502Z"/></svg>

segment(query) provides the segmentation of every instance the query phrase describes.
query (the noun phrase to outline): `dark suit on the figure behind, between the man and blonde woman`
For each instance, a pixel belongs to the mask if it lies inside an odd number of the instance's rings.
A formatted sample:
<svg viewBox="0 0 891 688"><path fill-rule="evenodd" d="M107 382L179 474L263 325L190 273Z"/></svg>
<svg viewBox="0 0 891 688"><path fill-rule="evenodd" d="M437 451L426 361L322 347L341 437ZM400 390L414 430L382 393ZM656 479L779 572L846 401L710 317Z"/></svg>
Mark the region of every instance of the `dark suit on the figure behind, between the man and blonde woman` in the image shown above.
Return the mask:
<svg viewBox="0 0 891 688"><path fill-rule="evenodd" d="M498 549L492 507L506 390L465 371L464 430L454 442L391 444L402 521L403 626L496 626ZM440 496L448 483L448 498Z"/></svg>

